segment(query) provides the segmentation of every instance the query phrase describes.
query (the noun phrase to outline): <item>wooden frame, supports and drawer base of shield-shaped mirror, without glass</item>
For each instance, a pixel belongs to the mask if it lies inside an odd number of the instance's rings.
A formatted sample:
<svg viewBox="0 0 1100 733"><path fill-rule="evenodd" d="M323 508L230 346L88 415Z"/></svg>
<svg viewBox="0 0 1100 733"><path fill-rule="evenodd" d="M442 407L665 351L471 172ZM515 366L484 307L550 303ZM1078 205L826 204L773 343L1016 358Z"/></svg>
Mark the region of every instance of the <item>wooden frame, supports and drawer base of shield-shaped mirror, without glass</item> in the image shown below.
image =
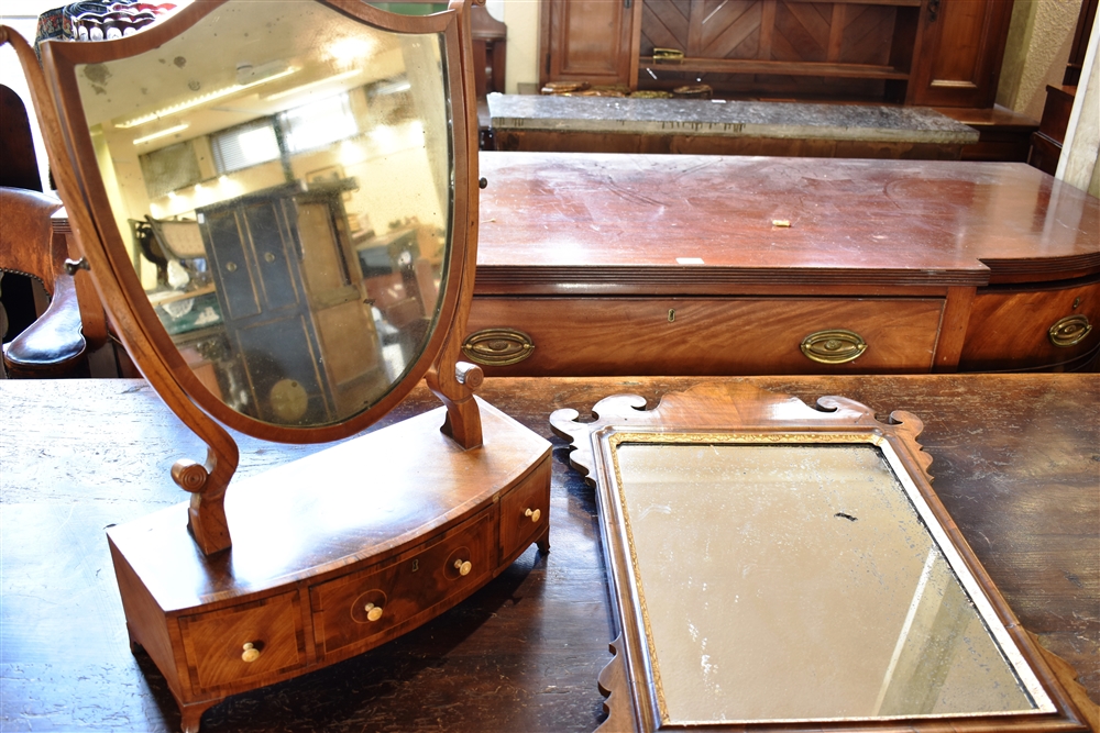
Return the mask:
<svg viewBox="0 0 1100 733"><path fill-rule="evenodd" d="M358 0L312 0L395 33L442 36L453 187L439 311L424 351L391 391L336 424L286 427L223 404L161 325L111 215L76 70L158 47L228 0L196 0L117 42L30 45L0 26L29 78L52 169L82 258L116 332L168 408L208 446L172 477L188 504L108 533L131 646L144 648L195 733L227 696L360 654L483 587L531 543L549 551L550 444L480 403L479 367L459 362L473 297L477 132L466 0L400 16ZM48 87L47 87L48 79ZM349 437L425 378L443 408L242 481L228 427L314 443ZM484 422L483 422L484 419ZM186 518L186 519L185 519ZM235 541L230 540L232 522Z"/></svg>

